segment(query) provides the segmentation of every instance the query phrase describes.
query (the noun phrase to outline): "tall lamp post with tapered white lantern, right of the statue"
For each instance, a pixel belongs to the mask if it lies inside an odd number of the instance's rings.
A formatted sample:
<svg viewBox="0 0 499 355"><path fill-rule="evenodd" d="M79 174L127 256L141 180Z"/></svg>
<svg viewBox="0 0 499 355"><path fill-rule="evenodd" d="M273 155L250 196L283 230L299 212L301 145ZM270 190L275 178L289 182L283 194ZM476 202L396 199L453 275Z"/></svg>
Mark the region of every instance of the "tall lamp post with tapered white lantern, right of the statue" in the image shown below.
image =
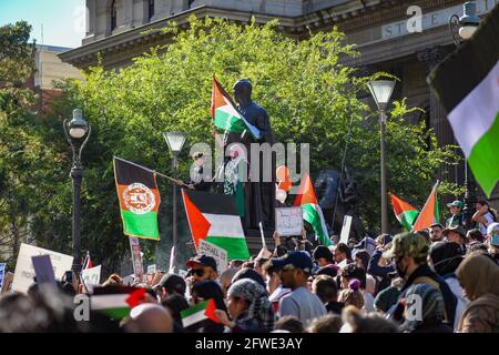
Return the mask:
<svg viewBox="0 0 499 355"><path fill-rule="evenodd" d="M370 94L379 110L379 141L380 141L380 180L381 180L381 233L388 233L387 215L387 189L386 189L386 156L385 156L385 135L386 135L386 106L394 92L395 81L393 80L373 80L368 84Z"/></svg>

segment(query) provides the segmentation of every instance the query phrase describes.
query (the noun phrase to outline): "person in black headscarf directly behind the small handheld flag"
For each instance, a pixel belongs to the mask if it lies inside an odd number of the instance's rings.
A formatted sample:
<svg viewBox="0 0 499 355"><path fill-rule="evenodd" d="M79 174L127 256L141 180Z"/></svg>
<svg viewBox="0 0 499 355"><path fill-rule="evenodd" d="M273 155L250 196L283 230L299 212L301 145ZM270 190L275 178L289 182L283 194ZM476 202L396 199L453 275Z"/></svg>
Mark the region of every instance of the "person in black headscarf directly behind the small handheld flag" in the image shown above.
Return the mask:
<svg viewBox="0 0 499 355"><path fill-rule="evenodd" d="M226 315L227 307L224 302L224 294L221 286L214 281L201 281L193 285L191 294L191 305L194 306L203 301L213 298L216 310ZM224 325L212 320L200 322L195 328L196 333L223 333Z"/></svg>

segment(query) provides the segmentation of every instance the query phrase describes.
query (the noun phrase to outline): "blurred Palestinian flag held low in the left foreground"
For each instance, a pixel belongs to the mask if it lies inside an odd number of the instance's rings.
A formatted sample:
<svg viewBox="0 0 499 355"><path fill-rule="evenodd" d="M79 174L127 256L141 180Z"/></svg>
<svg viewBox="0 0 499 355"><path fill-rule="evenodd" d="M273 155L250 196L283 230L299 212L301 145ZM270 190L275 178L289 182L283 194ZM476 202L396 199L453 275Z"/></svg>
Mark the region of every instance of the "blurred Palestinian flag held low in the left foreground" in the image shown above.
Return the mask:
<svg viewBox="0 0 499 355"><path fill-rule="evenodd" d="M130 314L130 310L144 301L146 290L131 286L99 286L93 288L90 308L121 320Z"/></svg>

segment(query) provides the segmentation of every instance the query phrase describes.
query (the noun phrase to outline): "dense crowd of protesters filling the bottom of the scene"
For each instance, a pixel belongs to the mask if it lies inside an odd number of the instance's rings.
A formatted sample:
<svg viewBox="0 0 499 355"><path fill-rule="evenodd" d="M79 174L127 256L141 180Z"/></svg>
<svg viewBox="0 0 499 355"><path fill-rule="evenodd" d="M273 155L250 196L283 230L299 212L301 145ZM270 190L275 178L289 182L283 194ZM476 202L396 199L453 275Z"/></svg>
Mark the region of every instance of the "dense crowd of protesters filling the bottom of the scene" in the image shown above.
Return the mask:
<svg viewBox="0 0 499 355"><path fill-rule="evenodd" d="M33 284L0 297L0 332L499 332L499 223L479 202L477 229L466 232L462 204L449 209L445 226L358 243L314 247L274 233L271 257L234 260L221 274L213 257L195 255L184 277L157 272L135 283L146 292L120 320L91 310L78 321L71 297L88 291ZM121 284L113 274L101 286ZM184 327L183 311L208 300L215 317Z"/></svg>

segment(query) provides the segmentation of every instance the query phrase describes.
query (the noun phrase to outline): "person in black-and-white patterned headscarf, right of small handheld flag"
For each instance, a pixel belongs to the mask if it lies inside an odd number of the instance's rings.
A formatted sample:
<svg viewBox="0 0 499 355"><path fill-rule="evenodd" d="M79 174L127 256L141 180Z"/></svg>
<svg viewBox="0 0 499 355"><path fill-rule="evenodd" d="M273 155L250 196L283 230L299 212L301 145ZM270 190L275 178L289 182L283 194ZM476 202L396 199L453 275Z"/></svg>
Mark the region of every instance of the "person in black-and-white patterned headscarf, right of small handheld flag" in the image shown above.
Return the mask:
<svg viewBox="0 0 499 355"><path fill-rule="evenodd" d="M228 288L228 313L215 311L222 324L232 333L267 333L274 328L274 306L268 301L267 292L257 282L242 278Z"/></svg>

